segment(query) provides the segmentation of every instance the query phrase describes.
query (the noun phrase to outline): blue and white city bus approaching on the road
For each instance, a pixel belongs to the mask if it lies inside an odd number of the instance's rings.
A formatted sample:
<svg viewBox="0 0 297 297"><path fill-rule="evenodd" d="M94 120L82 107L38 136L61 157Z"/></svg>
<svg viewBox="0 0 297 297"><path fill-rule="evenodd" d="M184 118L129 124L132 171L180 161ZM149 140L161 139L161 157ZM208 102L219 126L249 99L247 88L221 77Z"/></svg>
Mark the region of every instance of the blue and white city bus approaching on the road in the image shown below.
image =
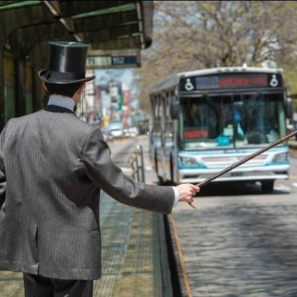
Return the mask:
<svg viewBox="0 0 297 297"><path fill-rule="evenodd" d="M219 67L171 75L150 86L150 156L160 182L197 183L285 136L281 69ZM289 178L287 143L216 182Z"/></svg>

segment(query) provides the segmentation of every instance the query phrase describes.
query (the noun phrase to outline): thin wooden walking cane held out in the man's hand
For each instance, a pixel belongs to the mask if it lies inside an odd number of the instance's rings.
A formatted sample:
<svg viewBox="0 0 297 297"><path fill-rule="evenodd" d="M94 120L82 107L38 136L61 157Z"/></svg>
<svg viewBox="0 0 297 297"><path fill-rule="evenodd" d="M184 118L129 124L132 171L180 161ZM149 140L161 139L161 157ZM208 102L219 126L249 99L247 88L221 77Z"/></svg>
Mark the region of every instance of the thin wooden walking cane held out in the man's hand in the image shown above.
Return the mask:
<svg viewBox="0 0 297 297"><path fill-rule="evenodd" d="M231 171L232 169L235 169L237 167L239 167L240 165L250 161L252 158L259 156L259 154L262 154L263 152L266 152L267 150L270 150L272 147L275 147L276 145L286 141L287 139L290 139L293 136L297 135L297 131L292 132L290 134L287 134L287 136L278 139L278 141L276 141L275 143L271 143L270 145L267 145L265 147L263 147L263 149L255 152L254 154L250 154L249 156L246 156L246 158L243 158L242 160L240 160L239 162L223 169L222 171L219 171L217 174L214 174L213 176L210 176L209 178L206 178L205 180L202 180L202 182L199 182L197 184L198 187L203 187L207 184L209 184L209 182L212 182L213 180L215 180L216 178L219 178L219 176L222 176L223 174L226 174L227 172ZM193 202L188 202L188 204L193 207L193 209L197 209L197 206L195 206L195 204L193 204Z"/></svg>

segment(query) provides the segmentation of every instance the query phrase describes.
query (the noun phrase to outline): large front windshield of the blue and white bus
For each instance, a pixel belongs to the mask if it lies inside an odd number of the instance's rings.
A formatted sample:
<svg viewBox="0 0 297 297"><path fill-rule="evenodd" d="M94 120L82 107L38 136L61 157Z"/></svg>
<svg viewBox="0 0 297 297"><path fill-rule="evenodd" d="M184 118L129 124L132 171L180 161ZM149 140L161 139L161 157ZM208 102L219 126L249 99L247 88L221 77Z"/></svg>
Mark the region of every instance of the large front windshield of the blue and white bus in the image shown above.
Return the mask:
<svg viewBox="0 0 297 297"><path fill-rule="evenodd" d="M263 147L285 136L282 93L180 98L184 150Z"/></svg>

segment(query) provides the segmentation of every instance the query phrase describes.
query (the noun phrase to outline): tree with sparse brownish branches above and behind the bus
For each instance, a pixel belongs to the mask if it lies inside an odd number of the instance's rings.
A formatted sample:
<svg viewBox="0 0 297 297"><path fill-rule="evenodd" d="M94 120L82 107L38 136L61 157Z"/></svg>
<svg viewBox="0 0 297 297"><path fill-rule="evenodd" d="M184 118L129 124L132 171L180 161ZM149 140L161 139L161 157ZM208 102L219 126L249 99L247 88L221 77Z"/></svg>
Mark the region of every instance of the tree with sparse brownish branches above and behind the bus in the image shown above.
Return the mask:
<svg viewBox="0 0 297 297"><path fill-rule="evenodd" d="M292 73L296 16L296 1L155 1L153 45L137 71L141 106L149 84L181 71L270 61Z"/></svg>

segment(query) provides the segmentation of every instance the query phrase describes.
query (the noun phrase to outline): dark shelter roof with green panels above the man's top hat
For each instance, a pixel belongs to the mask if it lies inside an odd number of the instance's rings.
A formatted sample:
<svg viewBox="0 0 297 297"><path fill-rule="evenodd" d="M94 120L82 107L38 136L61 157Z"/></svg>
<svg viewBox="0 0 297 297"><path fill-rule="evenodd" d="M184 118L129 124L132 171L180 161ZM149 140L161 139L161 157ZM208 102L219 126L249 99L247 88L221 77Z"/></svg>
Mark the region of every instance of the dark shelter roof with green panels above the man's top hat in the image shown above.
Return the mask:
<svg viewBox="0 0 297 297"><path fill-rule="evenodd" d="M153 10L153 1L0 1L0 41L20 54L58 39L91 49L145 49Z"/></svg>

